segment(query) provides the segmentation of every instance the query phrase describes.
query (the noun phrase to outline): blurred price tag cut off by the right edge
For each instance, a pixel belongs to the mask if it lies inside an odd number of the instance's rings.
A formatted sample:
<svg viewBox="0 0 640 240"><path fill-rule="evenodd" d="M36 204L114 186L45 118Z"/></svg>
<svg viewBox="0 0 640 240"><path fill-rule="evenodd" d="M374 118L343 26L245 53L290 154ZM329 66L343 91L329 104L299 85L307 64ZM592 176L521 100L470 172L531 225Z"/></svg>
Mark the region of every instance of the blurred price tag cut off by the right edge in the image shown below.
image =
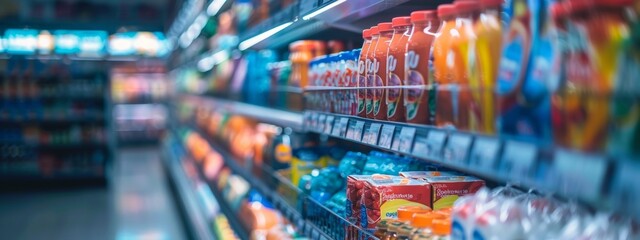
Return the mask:
<svg viewBox="0 0 640 240"><path fill-rule="evenodd" d="M632 162L631 159L623 159L615 171L611 188L611 203L617 209L625 209L629 216L640 216L640 162Z"/></svg>

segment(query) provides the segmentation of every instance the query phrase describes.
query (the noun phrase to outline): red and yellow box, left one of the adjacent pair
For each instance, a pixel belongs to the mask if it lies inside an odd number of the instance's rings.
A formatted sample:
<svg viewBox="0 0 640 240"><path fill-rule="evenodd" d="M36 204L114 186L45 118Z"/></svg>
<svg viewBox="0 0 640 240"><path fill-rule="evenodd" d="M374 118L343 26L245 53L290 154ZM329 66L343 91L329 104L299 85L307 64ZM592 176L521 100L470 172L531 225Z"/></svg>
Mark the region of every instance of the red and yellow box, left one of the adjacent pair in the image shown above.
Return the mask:
<svg viewBox="0 0 640 240"><path fill-rule="evenodd" d="M400 176L374 175L364 185L360 224L375 229L382 219L397 218L398 208L430 208L431 186L428 182Z"/></svg>

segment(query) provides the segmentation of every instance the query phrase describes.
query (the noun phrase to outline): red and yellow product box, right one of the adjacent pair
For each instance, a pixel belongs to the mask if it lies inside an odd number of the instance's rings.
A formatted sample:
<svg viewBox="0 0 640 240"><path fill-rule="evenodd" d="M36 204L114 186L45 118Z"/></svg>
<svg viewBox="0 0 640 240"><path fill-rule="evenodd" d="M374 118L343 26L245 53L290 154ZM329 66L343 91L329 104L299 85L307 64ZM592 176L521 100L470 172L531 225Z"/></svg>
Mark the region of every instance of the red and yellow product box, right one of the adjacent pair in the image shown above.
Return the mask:
<svg viewBox="0 0 640 240"><path fill-rule="evenodd" d="M473 194L485 185L483 180L469 176L428 177L426 181L432 188L433 202L429 206L433 210L452 207L458 197Z"/></svg>

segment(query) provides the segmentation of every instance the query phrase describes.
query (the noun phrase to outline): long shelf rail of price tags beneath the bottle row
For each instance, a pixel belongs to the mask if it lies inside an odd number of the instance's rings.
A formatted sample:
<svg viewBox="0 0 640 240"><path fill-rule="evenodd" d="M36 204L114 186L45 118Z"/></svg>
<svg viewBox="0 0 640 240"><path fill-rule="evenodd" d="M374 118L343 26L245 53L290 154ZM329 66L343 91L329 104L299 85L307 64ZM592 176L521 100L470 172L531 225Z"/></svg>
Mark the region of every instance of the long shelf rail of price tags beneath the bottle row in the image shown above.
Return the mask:
<svg viewBox="0 0 640 240"><path fill-rule="evenodd" d="M611 202L602 199L616 164L607 156L424 125L314 111L304 115L309 132L412 156L496 183L557 193L594 207Z"/></svg>

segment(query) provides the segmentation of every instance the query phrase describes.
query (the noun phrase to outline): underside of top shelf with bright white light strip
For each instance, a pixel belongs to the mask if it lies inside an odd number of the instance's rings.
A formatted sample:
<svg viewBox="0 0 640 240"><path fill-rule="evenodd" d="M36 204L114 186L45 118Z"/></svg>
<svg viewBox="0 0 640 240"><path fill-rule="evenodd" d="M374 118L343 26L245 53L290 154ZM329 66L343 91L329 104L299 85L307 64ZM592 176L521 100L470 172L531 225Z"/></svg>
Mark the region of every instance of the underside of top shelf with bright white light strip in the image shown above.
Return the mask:
<svg viewBox="0 0 640 240"><path fill-rule="evenodd" d="M254 40L261 34L283 24L287 27L273 36L259 41L252 48L278 48L292 41L316 36L328 29L338 29L360 34L365 28L377 24L380 19L408 15L411 11L420 9L435 9L446 1L411 1L411 0L320 0L298 1L290 7L274 14L269 19L248 29L240 35L240 42ZM309 19L310 14L319 13ZM331 35L335 36L335 35ZM318 36L322 37L322 36Z"/></svg>

